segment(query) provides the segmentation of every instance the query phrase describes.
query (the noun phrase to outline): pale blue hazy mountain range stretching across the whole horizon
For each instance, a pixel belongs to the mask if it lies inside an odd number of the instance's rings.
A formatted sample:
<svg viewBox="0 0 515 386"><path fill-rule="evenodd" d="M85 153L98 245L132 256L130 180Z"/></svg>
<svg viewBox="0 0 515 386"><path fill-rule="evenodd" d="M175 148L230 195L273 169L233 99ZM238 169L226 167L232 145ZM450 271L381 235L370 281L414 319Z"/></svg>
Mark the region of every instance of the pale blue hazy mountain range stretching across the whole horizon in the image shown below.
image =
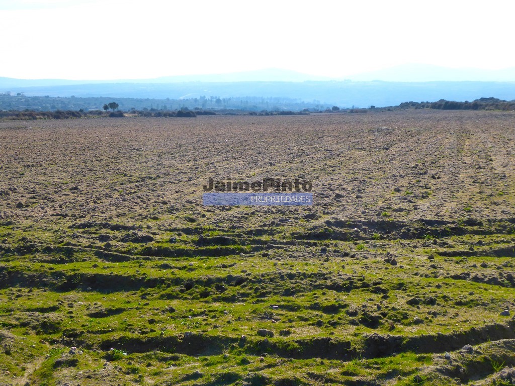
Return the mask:
<svg viewBox="0 0 515 386"><path fill-rule="evenodd" d="M231 74L155 79L64 80L0 78L0 93L53 97L184 99L282 97L339 107L396 106L405 101L515 99L515 68L452 69L420 64L391 67L345 79L278 68Z"/></svg>

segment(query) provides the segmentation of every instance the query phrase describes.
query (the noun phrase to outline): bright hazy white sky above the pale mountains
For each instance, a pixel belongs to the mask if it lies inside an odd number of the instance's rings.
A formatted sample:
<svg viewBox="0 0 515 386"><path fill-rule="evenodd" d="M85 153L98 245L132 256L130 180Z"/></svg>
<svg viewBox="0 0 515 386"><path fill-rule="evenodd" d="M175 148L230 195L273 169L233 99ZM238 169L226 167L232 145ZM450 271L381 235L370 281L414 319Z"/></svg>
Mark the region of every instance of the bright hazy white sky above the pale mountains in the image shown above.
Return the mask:
<svg viewBox="0 0 515 386"><path fill-rule="evenodd" d="M130 79L268 67L515 66L515 1L0 0L0 76Z"/></svg>

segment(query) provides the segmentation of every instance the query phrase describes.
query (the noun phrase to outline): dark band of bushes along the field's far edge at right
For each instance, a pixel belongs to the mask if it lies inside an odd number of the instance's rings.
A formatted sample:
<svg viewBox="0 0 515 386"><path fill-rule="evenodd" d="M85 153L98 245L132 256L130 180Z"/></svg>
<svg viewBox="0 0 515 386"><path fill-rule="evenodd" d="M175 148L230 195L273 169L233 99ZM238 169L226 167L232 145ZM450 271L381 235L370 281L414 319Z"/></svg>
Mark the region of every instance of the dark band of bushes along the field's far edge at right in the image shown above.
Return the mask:
<svg viewBox="0 0 515 386"><path fill-rule="evenodd" d="M437 109L437 110L515 110L515 100L506 101L497 98L479 98L472 102L456 102L440 99L437 102L403 102L400 109Z"/></svg>

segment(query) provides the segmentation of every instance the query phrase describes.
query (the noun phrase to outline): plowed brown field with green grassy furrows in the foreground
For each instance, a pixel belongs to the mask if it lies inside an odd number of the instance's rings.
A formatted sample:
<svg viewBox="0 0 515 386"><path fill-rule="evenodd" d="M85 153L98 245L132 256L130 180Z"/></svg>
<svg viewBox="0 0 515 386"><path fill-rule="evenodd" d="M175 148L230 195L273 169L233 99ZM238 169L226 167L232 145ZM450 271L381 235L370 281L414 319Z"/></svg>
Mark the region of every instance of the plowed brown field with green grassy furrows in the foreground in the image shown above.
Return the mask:
<svg viewBox="0 0 515 386"><path fill-rule="evenodd" d="M1 385L513 384L514 257L513 112L0 121Z"/></svg>

